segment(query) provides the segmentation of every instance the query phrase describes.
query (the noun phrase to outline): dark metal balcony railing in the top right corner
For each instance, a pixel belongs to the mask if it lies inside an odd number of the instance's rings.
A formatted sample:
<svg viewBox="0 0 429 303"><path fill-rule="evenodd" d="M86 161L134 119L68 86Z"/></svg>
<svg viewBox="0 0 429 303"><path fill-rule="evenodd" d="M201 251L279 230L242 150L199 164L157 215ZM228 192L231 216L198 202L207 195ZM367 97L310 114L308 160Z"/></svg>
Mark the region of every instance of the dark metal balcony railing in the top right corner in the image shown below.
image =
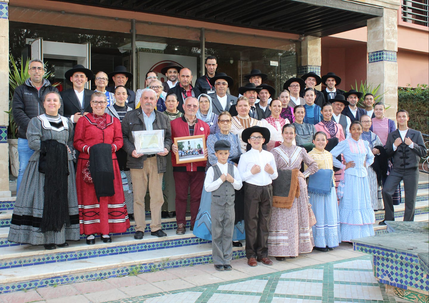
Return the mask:
<svg viewBox="0 0 429 303"><path fill-rule="evenodd" d="M402 0L402 21L429 27L428 0Z"/></svg>

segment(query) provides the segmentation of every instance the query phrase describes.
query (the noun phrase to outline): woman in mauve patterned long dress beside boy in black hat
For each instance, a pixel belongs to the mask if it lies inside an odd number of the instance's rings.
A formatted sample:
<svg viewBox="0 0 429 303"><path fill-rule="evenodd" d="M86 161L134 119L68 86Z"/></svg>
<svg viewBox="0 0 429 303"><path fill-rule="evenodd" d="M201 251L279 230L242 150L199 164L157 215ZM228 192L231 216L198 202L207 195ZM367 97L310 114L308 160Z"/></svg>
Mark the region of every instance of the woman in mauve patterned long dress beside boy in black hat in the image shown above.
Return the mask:
<svg viewBox="0 0 429 303"><path fill-rule="evenodd" d="M268 255L275 256L278 261L284 261L286 257L294 258L299 253L313 250L313 233L308 216L311 205L308 202L305 178L318 170L316 162L307 154L305 149L293 145L293 139L296 136L295 127L292 124L284 125L282 134L283 144L271 150L279 173L276 183L280 186L285 183L289 183L291 187L292 184L299 186L299 196L292 197L293 202L290 208L281 208L280 205L275 207L274 204L272 207ZM299 171L302 162L308 166L304 172ZM285 175L281 173L283 169L298 170L295 180L293 172L290 180L287 180ZM275 183L273 183L273 187L275 187ZM287 220L285 220L286 218Z"/></svg>

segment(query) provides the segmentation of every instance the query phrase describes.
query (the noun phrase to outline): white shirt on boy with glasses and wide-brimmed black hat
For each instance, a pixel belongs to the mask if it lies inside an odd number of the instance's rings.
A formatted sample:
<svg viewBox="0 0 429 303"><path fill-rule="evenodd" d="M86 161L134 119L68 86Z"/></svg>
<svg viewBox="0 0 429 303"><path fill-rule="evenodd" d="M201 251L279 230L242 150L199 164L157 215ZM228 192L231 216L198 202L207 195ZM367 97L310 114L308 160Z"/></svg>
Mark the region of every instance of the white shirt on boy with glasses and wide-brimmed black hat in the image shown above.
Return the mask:
<svg viewBox="0 0 429 303"><path fill-rule="evenodd" d="M264 170L267 163L269 163L274 169L274 173L272 175ZM261 167L261 171L252 175L250 170L255 164ZM238 169L240 176L242 177L242 181L258 186L271 184L272 180L278 176L274 156L272 153L265 150L258 151L257 149L251 149L250 151L242 154L239 160Z"/></svg>

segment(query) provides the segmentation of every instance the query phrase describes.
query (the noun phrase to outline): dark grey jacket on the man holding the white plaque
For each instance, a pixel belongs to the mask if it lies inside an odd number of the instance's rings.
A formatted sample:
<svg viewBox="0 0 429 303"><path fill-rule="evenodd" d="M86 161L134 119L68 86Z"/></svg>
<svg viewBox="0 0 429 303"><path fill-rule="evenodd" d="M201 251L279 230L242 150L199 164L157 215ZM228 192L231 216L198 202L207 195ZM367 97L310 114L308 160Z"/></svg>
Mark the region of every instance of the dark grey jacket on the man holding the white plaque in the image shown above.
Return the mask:
<svg viewBox="0 0 429 303"><path fill-rule="evenodd" d="M163 129L164 130L164 147L169 151L171 148L171 126L170 121L166 115L157 110L155 111L155 120L152 124L154 130ZM144 155L139 158L132 156L133 151L136 149L134 146L133 131L145 131L146 125L143 118L143 110L141 107L136 110L131 110L125 114L124 119L122 120L122 136L124 137L124 146L122 149L127 152L127 167L135 169L143 169L143 163L146 160L147 156ZM157 154L157 166L158 173L166 172L167 167L167 157L160 156Z"/></svg>

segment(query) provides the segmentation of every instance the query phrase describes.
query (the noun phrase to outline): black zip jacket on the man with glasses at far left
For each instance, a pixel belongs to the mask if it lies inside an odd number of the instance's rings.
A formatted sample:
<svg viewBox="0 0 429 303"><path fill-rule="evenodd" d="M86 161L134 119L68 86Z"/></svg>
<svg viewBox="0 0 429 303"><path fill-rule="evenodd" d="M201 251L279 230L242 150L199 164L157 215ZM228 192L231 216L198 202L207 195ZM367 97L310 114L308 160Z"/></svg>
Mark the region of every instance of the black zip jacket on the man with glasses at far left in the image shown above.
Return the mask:
<svg viewBox="0 0 429 303"><path fill-rule="evenodd" d="M43 85L40 90L33 86L30 78L15 89L12 98L12 115L18 126L18 138L27 139L27 126L31 118L45 113L43 100L49 92L58 92L58 89L51 86L51 83L46 79L43 79ZM61 107L58 113L63 116L63 101L60 100L60 103Z"/></svg>

